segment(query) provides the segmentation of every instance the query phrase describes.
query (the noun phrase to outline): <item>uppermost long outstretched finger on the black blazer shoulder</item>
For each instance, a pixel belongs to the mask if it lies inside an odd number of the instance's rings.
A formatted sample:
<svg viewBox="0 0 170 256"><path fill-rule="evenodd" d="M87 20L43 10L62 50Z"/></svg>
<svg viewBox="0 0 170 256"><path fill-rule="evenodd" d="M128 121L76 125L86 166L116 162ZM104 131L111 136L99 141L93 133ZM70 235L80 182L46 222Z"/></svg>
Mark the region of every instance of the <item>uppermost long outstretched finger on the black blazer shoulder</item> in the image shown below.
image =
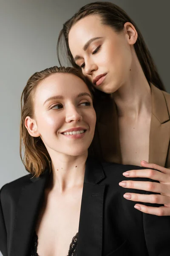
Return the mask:
<svg viewBox="0 0 170 256"><path fill-rule="evenodd" d="M167 183L170 181L170 175L164 174L162 172L158 172L153 169L130 170L130 171L124 172L123 175L125 177L149 178L149 179L158 180L164 183Z"/></svg>

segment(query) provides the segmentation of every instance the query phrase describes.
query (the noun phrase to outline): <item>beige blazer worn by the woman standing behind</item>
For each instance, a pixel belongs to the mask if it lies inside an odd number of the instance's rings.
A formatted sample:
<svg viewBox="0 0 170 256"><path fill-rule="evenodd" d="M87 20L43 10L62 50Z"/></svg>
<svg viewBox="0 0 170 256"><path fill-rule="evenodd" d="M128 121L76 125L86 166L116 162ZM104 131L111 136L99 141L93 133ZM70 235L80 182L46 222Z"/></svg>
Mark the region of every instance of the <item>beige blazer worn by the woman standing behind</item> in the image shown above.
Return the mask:
<svg viewBox="0 0 170 256"><path fill-rule="evenodd" d="M150 84L152 116L149 163L170 168L170 94ZM105 161L122 163L116 105L111 98L96 106L97 122L89 154Z"/></svg>

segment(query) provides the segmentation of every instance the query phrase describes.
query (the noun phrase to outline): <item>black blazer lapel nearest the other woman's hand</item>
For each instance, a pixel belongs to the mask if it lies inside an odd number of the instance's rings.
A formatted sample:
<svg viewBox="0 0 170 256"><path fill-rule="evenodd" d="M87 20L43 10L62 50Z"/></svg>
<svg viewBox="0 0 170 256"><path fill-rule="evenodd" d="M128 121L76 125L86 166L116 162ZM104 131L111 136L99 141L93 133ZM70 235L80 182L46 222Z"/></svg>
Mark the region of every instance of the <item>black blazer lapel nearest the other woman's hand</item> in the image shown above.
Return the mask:
<svg viewBox="0 0 170 256"><path fill-rule="evenodd" d="M82 192L77 256L102 256L103 201L105 178L102 166L88 159Z"/></svg>

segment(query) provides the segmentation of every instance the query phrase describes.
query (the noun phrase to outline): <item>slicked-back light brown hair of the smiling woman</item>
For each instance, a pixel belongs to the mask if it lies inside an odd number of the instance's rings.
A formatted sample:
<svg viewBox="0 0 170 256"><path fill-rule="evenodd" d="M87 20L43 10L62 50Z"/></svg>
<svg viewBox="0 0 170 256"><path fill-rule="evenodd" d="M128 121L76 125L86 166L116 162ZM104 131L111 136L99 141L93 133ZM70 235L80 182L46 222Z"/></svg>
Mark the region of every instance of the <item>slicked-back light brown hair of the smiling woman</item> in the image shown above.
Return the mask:
<svg viewBox="0 0 170 256"><path fill-rule="evenodd" d="M91 86L82 73L73 67L50 67L34 73L27 81L21 95L21 122L20 122L20 157L28 172L39 177L46 168L51 170L51 158L40 137L32 137L26 127L26 116L34 118L34 93L37 85L54 73L70 73L78 76L88 86L91 94ZM24 156L22 156L22 149Z"/></svg>

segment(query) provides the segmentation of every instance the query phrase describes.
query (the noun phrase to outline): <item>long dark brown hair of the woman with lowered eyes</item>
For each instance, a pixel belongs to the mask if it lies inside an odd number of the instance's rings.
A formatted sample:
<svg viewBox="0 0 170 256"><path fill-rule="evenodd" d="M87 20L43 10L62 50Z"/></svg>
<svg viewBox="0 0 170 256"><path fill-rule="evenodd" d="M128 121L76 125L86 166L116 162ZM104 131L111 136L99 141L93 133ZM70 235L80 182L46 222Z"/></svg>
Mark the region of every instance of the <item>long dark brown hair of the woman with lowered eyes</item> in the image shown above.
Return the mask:
<svg viewBox="0 0 170 256"><path fill-rule="evenodd" d="M66 57L71 62L73 67L78 69L80 68L75 63L74 58L69 49L68 34L70 32L71 27L78 20L81 20L82 18L88 15L99 15L101 17L102 24L111 26L116 32L122 31L124 28L124 24L126 22L132 23L133 26L135 26L136 31L138 33L138 38L136 43L134 44L134 48L139 59L139 62L142 66L144 75L146 76L148 82L153 83L156 87L165 91L164 84L161 81L156 65L153 61L149 49L147 48L144 42L144 38L142 37L141 32L139 31L133 20L130 19L130 17L124 10L110 2L89 3L83 6L81 9L79 9L79 11L75 13L75 15L71 17L71 19L64 23L63 29L59 33L59 38L57 42L57 56L60 65L61 59L59 57L59 49L61 49L61 52L63 54L62 47L64 47Z"/></svg>

